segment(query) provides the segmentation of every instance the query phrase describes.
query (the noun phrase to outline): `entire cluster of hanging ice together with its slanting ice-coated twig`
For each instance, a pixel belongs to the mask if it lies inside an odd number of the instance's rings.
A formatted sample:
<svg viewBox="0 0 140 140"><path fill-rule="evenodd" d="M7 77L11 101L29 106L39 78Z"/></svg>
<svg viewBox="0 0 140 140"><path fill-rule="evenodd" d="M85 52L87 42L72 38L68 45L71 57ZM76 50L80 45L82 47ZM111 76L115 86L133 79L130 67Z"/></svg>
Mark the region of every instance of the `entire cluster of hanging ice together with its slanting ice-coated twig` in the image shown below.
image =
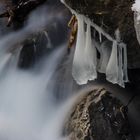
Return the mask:
<svg viewBox="0 0 140 140"><path fill-rule="evenodd" d="M72 69L75 81L79 85L86 84L88 81L97 78L98 71L106 74L106 79L109 82L124 87L125 82L128 82L127 52L126 45L121 41L119 30L116 30L115 38L112 38L89 18L71 9L64 0L61 2L75 14L78 20L78 34ZM91 37L91 28L98 32L101 45L95 43L94 38ZM108 46L102 42L102 36L112 42L112 45ZM101 55L99 61L97 61L97 50Z"/></svg>

